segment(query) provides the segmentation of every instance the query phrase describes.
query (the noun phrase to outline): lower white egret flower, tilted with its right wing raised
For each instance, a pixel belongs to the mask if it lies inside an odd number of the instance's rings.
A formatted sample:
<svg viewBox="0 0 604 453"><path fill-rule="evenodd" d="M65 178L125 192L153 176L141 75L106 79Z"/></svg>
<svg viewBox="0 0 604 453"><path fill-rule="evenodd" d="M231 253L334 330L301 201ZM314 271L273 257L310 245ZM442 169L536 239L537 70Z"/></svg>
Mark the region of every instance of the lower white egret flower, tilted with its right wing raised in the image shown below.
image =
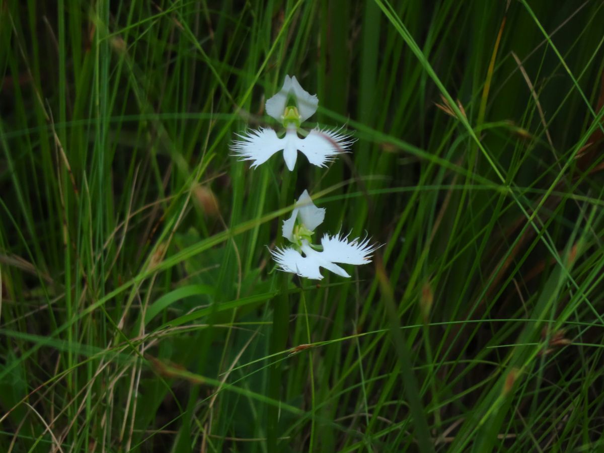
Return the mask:
<svg viewBox="0 0 604 453"><path fill-rule="evenodd" d="M324 208L316 207L306 190L296 202L288 220L283 221L283 237L294 244L291 247L276 248L271 251L281 271L292 272L300 277L321 280L320 268L332 271L342 277L350 277L339 264L362 265L370 263L371 254L377 245L370 245L369 239L349 240L349 235L324 234L321 246L313 245L311 237L315 228L323 223ZM322 248L322 251L318 249Z"/></svg>

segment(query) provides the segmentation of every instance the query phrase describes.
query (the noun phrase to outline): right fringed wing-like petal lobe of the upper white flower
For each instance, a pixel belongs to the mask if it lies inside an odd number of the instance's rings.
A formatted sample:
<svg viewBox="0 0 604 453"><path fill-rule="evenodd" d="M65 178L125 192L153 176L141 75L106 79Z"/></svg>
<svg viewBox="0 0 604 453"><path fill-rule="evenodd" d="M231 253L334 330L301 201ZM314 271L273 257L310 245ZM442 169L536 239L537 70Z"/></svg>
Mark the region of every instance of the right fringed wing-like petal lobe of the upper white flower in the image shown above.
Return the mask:
<svg viewBox="0 0 604 453"><path fill-rule="evenodd" d="M326 167L335 156L348 152L355 139L337 130L313 129L306 138L298 141L298 150L304 153L308 161L318 167Z"/></svg>

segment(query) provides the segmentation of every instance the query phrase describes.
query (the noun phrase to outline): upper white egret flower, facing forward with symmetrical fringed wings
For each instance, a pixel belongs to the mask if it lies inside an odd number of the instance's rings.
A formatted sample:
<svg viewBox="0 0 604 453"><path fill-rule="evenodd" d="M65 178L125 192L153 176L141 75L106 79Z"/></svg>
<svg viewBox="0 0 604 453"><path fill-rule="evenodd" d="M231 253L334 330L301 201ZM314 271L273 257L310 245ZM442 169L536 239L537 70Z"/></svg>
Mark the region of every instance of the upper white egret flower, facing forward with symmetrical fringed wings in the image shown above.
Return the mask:
<svg viewBox="0 0 604 453"><path fill-rule="evenodd" d="M288 105L290 98L295 101L295 106ZM316 112L318 103L316 95L304 91L295 76L285 76L281 90L266 101L266 113L283 124L284 136L278 137L277 132L271 128L249 130L237 134L240 140L234 141L231 150L243 161L253 161L252 168L268 161L279 151L283 151L283 159L289 171L294 170L298 151L311 164L326 167L336 155L347 152L355 140L341 133L341 129L325 130L315 127L310 132L300 129L300 123ZM298 137L298 133L304 138Z"/></svg>

